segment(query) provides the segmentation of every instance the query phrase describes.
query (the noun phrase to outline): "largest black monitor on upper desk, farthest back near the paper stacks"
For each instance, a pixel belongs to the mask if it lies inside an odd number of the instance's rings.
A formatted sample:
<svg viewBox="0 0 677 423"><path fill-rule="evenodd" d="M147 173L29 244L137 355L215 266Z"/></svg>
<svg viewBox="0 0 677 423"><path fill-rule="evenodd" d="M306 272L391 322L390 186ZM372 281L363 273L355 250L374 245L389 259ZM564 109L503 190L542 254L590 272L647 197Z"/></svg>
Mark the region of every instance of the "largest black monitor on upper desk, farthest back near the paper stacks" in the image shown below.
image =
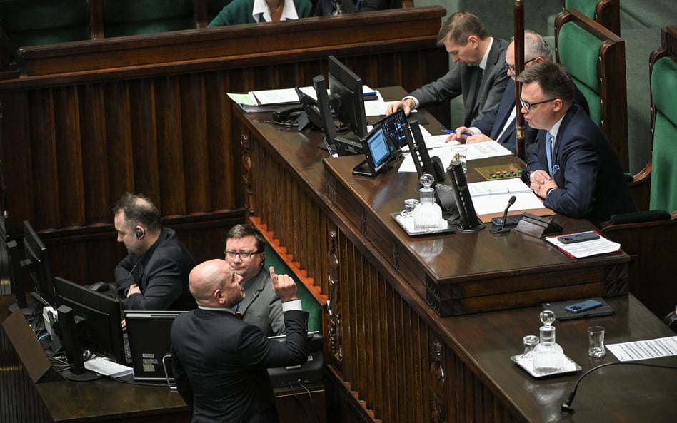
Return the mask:
<svg viewBox="0 0 677 423"><path fill-rule="evenodd" d="M357 138L367 135L362 79L339 59L329 56L329 93L338 99L336 117Z"/></svg>

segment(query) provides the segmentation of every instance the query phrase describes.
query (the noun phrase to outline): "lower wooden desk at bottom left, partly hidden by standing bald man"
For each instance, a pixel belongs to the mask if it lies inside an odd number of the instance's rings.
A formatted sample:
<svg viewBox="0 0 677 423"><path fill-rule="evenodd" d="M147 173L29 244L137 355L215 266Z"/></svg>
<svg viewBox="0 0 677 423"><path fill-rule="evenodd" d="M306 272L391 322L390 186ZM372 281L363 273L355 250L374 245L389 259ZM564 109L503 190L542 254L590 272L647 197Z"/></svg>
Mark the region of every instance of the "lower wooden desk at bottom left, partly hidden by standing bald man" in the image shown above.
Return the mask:
<svg viewBox="0 0 677 423"><path fill-rule="evenodd" d="M13 298L0 297L0 422L191 421L184 400L166 384L63 379L49 367L27 325L20 327L26 324L23 317L8 318L7 307ZM275 389L281 423L297 422L299 416L309 416L309 422L326 422L324 382L306 384L306 389Z"/></svg>

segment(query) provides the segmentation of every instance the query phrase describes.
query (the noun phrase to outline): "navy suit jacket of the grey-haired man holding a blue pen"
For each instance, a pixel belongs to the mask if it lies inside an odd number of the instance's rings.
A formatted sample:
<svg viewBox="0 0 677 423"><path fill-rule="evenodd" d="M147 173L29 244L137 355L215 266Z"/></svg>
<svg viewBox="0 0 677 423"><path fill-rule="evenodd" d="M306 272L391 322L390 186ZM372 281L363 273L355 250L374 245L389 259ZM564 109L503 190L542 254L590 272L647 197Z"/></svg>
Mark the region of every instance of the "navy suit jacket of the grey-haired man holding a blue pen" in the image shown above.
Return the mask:
<svg viewBox="0 0 677 423"><path fill-rule="evenodd" d="M573 102L582 106L585 109L586 113L589 113L588 110L588 101L586 100L583 93L581 93L576 86L574 86L573 93ZM510 117L510 114L515 107L515 81L510 78L508 80L508 85L506 85L506 91L503 92L503 97L501 98L501 103L498 103L498 106L492 108L490 111L486 112L482 118L478 119L473 123L475 128L478 128L482 131L483 134L489 136L492 140L501 143L503 147L508 148L512 151L513 154L517 153L517 126L516 119L513 119L512 123L506 128L506 131L503 131L503 126L506 125L506 121ZM525 150L531 144L536 143L536 134L538 133L537 129L531 128L528 126L528 123L525 123L524 131L524 147ZM498 136L500 138L497 138ZM527 156L528 157L528 156Z"/></svg>

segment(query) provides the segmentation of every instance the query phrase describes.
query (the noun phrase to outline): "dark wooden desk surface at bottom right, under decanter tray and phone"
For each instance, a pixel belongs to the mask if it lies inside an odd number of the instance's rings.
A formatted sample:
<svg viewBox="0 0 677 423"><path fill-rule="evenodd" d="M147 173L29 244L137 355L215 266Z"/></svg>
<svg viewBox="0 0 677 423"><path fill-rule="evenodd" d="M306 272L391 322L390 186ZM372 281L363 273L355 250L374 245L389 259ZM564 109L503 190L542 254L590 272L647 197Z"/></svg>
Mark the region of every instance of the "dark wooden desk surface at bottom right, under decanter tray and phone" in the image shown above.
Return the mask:
<svg viewBox="0 0 677 423"><path fill-rule="evenodd" d="M509 358L521 353L524 335L538 335L541 307L458 316L441 320L440 325L463 346L470 366L524 421L676 422L677 369L636 365L603 367L588 374L578 385L574 414L560 412L578 377L596 365L618 362L608 350L601 360L588 358L588 326L605 327L607 345L675 335L633 296L607 302L614 315L555 322L557 342L582 370L551 379L534 379ZM677 367L675 356L642 362Z"/></svg>

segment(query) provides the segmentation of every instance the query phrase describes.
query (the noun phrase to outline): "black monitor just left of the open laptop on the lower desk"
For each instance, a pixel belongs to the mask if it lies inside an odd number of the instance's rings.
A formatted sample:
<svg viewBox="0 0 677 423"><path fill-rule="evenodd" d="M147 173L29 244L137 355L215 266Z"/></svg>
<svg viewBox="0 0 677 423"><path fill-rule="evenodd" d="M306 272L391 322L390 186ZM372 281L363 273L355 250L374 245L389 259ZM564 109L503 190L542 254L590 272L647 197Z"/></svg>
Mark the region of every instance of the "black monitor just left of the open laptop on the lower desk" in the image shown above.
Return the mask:
<svg viewBox="0 0 677 423"><path fill-rule="evenodd" d="M122 315L119 300L84 286L54 278L56 304L71 307L82 347L124 363Z"/></svg>

